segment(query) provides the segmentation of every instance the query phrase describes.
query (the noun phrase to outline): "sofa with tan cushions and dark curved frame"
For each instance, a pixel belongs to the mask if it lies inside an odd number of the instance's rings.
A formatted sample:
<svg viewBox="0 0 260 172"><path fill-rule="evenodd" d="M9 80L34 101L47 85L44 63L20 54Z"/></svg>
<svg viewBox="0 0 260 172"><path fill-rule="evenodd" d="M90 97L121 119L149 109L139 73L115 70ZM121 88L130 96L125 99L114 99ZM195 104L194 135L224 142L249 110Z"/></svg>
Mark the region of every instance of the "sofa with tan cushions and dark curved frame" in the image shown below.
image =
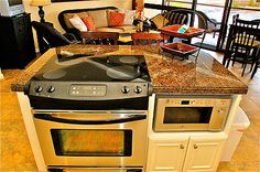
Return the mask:
<svg viewBox="0 0 260 172"><path fill-rule="evenodd" d="M58 22L61 26L65 30L66 33L74 34L77 40L80 39L80 30L76 29L72 23L72 18L78 15L80 19L89 19L91 18L90 26L87 25L87 31L100 31L100 32L118 32L118 33L128 33L136 29L132 24L132 20L134 18L133 10L124 11L124 20L123 23L119 20L119 24L111 24L111 14L123 13L122 10L117 9L116 7L102 7L102 8L94 8L94 9L73 9L73 10L64 10L58 14ZM85 21L85 20L84 20ZM116 21L117 22L117 21ZM89 23L89 21L88 21ZM86 22L85 22L86 24ZM94 28L93 28L94 26ZM86 31L86 29L83 29Z"/></svg>

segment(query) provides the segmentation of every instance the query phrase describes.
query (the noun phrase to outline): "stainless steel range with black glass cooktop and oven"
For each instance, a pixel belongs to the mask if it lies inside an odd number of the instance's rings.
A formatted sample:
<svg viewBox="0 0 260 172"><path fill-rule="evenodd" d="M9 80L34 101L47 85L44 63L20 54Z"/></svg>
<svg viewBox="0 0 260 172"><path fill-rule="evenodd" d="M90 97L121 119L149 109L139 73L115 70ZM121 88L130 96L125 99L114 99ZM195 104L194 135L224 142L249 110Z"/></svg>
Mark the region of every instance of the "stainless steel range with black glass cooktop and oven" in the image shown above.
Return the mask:
<svg viewBox="0 0 260 172"><path fill-rule="evenodd" d="M143 171L150 76L141 55L57 55L28 94L50 171Z"/></svg>

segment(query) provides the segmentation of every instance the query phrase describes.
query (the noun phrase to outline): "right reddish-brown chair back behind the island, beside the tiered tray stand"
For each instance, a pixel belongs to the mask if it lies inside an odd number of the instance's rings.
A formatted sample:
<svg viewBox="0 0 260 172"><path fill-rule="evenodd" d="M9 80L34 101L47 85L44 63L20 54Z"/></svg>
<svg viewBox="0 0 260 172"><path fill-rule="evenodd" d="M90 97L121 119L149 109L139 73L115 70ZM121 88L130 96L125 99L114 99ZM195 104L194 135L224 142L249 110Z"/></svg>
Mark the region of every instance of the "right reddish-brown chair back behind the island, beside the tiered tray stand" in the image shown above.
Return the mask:
<svg viewBox="0 0 260 172"><path fill-rule="evenodd" d="M160 46L161 43L170 39L161 33L137 32L131 34L133 45Z"/></svg>

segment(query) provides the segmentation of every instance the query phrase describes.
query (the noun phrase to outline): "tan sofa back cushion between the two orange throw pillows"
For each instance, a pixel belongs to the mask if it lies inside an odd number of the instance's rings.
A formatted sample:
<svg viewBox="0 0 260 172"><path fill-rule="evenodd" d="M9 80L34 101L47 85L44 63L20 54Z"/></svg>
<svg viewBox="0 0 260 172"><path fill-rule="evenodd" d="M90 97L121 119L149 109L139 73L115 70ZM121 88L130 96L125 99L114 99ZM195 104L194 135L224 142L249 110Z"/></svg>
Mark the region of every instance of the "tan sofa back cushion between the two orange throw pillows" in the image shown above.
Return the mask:
<svg viewBox="0 0 260 172"><path fill-rule="evenodd" d="M88 11L88 15L93 18L96 28L108 26L107 10Z"/></svg>

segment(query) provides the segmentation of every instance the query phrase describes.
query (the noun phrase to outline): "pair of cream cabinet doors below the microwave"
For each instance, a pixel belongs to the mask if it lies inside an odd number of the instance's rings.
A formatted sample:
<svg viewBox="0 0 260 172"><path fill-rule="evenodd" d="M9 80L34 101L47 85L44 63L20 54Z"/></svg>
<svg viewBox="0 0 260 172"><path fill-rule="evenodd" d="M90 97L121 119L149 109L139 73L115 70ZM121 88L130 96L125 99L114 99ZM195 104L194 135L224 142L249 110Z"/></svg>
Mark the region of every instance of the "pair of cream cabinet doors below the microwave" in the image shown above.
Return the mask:
<svg viewBox="0 0 260 172"><path fill-rule="evenodd" d="M147 172L214 172L226 137L150 139Z"/></svg>

